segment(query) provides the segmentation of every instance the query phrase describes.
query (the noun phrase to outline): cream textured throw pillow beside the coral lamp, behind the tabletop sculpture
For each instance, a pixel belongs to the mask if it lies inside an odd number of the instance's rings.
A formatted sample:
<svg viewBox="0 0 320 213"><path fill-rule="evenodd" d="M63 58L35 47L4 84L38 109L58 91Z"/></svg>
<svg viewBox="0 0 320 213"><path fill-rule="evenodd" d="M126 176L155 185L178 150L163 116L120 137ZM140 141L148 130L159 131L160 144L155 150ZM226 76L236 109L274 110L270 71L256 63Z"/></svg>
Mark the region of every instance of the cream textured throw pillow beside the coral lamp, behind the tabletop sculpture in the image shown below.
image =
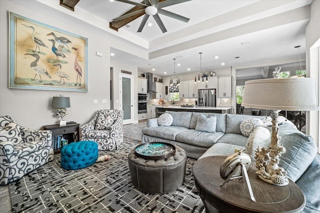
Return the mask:
<svg viewBox="0 0 320 213"><path fill-rule="evenodd" d="M248 154L251 158L251 161L255 161L255 151L257 147L268 148L271 143L270 132L264 127L256 127L253 132L250 134L247 143L245 145L244 153Z"/></svg>

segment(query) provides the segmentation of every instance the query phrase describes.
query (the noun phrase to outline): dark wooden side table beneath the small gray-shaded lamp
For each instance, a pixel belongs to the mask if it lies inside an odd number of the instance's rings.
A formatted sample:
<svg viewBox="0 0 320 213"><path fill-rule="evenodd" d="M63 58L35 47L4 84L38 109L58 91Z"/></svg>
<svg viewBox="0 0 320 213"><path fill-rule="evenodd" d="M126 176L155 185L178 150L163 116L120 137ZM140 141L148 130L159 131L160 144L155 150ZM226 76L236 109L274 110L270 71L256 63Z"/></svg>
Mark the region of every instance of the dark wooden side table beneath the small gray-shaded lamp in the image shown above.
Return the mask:
<svg viewBox="0 0 320 213"><path fill-rule="evenodd" d="M60 126L58 124L46 125L43 126L44 130L50 130L52 132L52 143L54 143L53 138L61 135L64 139L68 141L68 144L71 142L80 140L80 131L78 123L66 124L65 126ZM53 153L57 154L61 152L62 145L59 148L54 149Z"/></svg>

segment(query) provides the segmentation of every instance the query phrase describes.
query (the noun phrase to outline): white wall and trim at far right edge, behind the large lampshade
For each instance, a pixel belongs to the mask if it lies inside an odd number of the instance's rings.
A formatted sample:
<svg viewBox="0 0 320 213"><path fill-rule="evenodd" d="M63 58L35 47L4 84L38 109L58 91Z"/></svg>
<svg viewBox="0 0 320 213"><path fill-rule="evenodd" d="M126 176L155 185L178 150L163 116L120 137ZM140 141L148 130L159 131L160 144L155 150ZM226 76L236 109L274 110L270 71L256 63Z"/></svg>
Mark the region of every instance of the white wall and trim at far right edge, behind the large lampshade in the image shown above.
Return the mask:
<svg viewBox="0 0 320 213"><path fill-rule="evenodd" d="M306 36L306 72L307 76L316 79L317 82L317 94L318 104L319 102L319 70L320 70L320 1L313 0L310 4L310 21L305 27ZM320 126L319 126L319 111L310 111L306 113L307 129L306 133L311 135L318 146L318 152L320 153Z"/></svg>

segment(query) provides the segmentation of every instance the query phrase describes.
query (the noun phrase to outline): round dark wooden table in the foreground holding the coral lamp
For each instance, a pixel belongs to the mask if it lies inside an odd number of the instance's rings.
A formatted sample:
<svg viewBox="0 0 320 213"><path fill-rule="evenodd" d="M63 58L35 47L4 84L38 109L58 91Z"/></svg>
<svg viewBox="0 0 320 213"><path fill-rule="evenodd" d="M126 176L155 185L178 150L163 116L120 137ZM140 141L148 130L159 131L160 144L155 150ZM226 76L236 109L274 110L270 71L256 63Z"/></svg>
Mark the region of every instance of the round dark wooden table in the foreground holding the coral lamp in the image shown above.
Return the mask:
<svg viewBox="0 0 320 213"><path fill-rule="evenodd" d="M206 213L212 207L223 213L292 213L301 212L305 198L300 188L289 180L284 187L268 184L260 180L254 164L248 171L252 192L256 202L252 202L245 182L234 180L220 185L220 165L227 156L210 156L196 161L192 168L194 182Z"/></svg>

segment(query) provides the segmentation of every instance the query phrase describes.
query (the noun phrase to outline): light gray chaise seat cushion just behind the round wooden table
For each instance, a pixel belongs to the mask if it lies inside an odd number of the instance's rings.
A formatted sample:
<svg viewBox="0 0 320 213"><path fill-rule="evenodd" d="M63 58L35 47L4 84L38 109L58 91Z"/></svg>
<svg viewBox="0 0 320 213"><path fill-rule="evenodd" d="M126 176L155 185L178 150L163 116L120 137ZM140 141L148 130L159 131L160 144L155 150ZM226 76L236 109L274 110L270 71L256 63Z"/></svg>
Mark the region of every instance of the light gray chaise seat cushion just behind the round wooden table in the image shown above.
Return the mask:
<svg viewBox="0 0 320 213"><path fill-rule="evenodd" d="M229 156L233 154L235 150L239 150L242 148L243 146L216 143L212 147L210 147L199 159L208 156Z"/></svg>

